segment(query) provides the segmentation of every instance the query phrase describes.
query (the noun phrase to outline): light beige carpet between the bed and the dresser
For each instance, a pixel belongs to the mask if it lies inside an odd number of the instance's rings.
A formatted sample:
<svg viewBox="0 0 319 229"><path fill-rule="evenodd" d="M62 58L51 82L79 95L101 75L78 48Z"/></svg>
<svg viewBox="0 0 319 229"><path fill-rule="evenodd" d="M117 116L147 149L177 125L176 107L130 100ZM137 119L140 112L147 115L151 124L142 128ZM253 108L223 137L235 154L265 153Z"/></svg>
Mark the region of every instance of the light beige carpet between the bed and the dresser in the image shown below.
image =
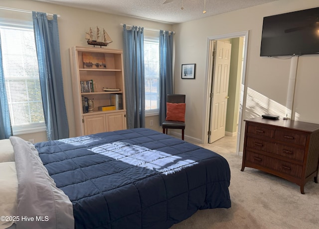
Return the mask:
<svg viewBox="0 0 319 229"><path fill-rule="evenodd" d="M232 207L199 210L170 229L319 229L319 184L309 180L303 195L282 178L248 167L240 171L242 156L234 153L232 138L200 145L227 159Z"/></svg>

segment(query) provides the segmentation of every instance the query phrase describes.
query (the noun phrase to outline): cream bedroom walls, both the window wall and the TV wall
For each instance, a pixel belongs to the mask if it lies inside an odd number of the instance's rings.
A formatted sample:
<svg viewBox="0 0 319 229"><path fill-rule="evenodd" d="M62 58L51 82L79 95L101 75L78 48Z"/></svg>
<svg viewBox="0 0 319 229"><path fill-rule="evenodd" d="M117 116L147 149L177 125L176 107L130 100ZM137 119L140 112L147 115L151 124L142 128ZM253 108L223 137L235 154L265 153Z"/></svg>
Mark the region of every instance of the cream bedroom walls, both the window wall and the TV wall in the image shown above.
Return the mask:
<svg viewBox="0 0 319 229"><path fill-rule="evenodd" d="M174 93L186 94L185 138L202 140L207 87L206 58L207 38L222 34L249 30L247 53L246 91L243 119L269 112L285 115L288 77L291 61L259 56L263 17L273 14L318 7L318 0L278 0L271 3L236 10L171 26L137 18L130 18L90 10L64 7L32 0L1 0L0 6L35 10L61 15L58 19L62 74L65 102L69 120L70 137L75 135L72 119L73 98L69 68L69 48L87 46L84 33L90 26L104 27L114 41L110 48L122 49L122 28L120 23L140 25L148 28L175 31ZM3 16L1 10L1 17ZM10 11L11 15L12 12ZM22 13L23 14L23 13ZM30 16L31 14L29 14ZM181 64L196 64L195 79L181 79ZM301 121L319 123L319 55L299 57L297 72L296 118ZM267 106L266 106L267 104ZM150 120L148 118L148 120ZM242 123L244 123L242 121ZM156 125L156 121L154 121ZM156 126L155 128L158 128ZM243 128L241 136L243 136ZM34 139L32 135L27 139ZM243 138L241 138L241 141ZM40 140L42 141L42 140ZM37 142L37 139L35 139Z"/></svg>

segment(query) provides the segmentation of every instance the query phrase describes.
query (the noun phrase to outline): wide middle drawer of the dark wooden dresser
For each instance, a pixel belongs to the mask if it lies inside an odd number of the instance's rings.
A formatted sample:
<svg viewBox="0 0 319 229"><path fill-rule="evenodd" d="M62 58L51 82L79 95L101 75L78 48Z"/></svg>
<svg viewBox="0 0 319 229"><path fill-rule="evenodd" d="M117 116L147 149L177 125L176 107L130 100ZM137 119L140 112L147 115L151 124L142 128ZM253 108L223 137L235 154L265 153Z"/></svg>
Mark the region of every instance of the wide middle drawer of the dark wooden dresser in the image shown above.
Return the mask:
<svg viewBox="0 0 319 229"><path fill-rule="evenodd" d="M246 146L257 151L273 153L299 162L304 161L305 149L247 137Z"/></svg>

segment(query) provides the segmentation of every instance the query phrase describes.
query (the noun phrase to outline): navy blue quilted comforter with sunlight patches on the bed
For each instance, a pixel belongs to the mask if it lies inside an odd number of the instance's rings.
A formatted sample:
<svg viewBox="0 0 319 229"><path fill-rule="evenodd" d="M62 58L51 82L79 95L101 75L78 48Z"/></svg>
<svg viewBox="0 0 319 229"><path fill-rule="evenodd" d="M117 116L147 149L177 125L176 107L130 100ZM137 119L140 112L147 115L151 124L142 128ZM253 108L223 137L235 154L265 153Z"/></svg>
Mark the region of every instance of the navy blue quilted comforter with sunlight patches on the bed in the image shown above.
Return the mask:
<svg viewBox="0 0 319 229"><path fill-rule="evenodd" d="M76 229L166 229L198 209L231 207L225 158L150 129L35 147L72 202Z"/></svg>

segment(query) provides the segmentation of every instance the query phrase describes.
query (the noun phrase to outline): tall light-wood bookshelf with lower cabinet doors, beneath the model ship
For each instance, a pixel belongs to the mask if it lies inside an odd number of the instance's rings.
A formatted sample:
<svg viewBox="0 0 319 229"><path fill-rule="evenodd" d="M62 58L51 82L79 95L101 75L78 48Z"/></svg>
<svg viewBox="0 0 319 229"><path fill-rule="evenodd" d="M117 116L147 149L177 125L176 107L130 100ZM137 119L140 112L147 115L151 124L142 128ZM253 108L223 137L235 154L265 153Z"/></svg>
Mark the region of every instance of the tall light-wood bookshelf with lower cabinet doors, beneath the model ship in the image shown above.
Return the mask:
<svg viewBox="0 0 319 229"><path fill-rule="evenodd" d="M123 51L75 46L70 48L70 60L76 136L126 129ZM99 107L115 106L111 104L114 94L117 109L100 111ZM88 100L94 102L92 112Z"/></svg>

